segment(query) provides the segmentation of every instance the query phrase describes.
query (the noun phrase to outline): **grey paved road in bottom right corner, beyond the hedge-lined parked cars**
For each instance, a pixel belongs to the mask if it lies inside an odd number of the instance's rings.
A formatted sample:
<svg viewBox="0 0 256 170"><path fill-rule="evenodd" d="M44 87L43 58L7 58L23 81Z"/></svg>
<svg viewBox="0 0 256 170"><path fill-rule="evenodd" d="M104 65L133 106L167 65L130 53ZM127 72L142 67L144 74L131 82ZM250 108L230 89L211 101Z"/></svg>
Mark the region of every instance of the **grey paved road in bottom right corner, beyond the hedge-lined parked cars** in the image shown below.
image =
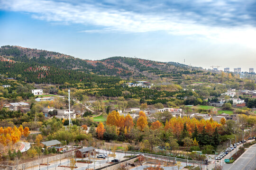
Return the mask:
<svg viewBox="0 0 256 170"><path fill-rule="evenodd" d="M243 153L234 163L223 163L223 170L250 170L252 166L254 167L251 170L255 170L256 144L247 148L247 151Z"/></svg>

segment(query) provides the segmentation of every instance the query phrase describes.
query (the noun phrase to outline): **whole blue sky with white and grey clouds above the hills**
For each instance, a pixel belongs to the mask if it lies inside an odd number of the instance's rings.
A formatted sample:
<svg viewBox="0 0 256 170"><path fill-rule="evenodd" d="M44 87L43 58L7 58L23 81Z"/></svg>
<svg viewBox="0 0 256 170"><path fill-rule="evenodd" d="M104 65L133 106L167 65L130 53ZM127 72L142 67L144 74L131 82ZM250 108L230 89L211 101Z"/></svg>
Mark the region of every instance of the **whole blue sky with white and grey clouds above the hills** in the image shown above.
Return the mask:
<svg viewBox="0 0 256 170"><path fill-rule="evenodd" d="M0 0L0 46L256 70L255 0Z"/></svg>

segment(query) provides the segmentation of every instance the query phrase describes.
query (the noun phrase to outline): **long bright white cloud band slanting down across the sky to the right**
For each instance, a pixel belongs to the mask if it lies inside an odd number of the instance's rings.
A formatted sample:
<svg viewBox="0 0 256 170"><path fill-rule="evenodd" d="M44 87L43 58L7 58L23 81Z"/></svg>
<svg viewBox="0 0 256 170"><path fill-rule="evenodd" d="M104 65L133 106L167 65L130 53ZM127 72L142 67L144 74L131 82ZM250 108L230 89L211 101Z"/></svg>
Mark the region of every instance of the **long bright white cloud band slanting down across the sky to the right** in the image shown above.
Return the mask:
<svg viewBox="0 0 256 170"><path fill-rule="evenodd" d="M212 3L213 6L218 8L228 8L227 4L221 0L213 1ZM0 8L29 12L33 18L49 22L102 27L102 29L81 31L86 33L166 31L175 35L191 35L192 37L198 35L216 43L238 43L254 49L254 44L256 44L256 29L253 26L223 27L205 25L188 19L188 16L191 16L191 18L200 17L191 11L181 13L172 10L170 14L140 14L124 9L106 8L103 5L89 3L74 5L64 1L52 0L0 0ZM230 13L223 13L222 20L228 21L227 16L230 17ZM204 20L204 22L210 22L207 18L204 18Z"/></svg>

